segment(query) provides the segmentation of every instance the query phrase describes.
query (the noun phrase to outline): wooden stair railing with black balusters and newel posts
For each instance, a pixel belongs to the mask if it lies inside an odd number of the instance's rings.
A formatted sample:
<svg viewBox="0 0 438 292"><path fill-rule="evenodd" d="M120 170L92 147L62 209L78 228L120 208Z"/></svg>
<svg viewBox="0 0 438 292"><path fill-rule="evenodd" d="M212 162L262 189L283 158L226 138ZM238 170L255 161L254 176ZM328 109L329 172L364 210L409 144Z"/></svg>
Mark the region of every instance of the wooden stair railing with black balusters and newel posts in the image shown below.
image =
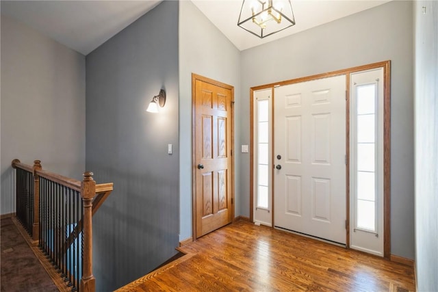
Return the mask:
<svg viewBox="0 0 438 292"><path fill-rule="evenodd" d="M95 291L92 274L92 215L113 189L96 185L92 172L83 181L42 170L41 161L16 169L16 217L46 254L71 291Z"/></svg>

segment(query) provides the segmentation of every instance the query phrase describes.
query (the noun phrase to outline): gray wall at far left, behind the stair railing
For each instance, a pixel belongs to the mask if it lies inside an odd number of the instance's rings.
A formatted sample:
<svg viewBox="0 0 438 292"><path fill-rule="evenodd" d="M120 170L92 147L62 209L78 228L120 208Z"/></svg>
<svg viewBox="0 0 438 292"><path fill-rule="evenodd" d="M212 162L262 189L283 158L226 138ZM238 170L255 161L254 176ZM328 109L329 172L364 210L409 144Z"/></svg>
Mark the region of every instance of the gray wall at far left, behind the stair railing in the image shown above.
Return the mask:
<svg viewBox="0 0 438 292"><path fill-rule="evenodd" d="M12 159L81 179L85 57L1 16L1 214L15 211Z"/></svg>

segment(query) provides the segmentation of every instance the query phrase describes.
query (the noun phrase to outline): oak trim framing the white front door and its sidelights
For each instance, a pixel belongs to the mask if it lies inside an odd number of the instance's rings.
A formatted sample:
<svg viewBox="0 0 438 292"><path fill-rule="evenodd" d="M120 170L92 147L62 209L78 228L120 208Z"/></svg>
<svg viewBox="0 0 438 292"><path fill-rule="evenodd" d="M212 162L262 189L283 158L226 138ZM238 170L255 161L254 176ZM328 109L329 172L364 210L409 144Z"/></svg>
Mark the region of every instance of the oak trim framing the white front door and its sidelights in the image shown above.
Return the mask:
<svg viewBox="0 0 438 292"><path fill-rule="evenodd" d="M278 85L288 85L292 83L300 83L311 81L315 79L322 79L326 77L333 77L337 75L346 75L346 247L350 248L350 73L370 70L375 68L383 68L384 88L383 88L383 226L384 226L384 240L383 240L383 256L389 258L391 256L391 61L376 62L363 66L346 68L342 70L326 72L318 75L311 75L307 77L300 77L297 79L290 79L266 85L259 85L250 88L250 153L254 152L254 116L253 116L253 99L256 90L263 90L274 88ZM275 95L273 94L273 98ZM274 108L272 107L272 111ZM272 124L274 127L274 124ZM254 206L254 161L250 159L250 222L254 220L253 206ZM274 193L274 189L272 189ZM274 196L272 196L272 206L274 206ZM274 208L272 209L272 226L274 226Z"/></svg>

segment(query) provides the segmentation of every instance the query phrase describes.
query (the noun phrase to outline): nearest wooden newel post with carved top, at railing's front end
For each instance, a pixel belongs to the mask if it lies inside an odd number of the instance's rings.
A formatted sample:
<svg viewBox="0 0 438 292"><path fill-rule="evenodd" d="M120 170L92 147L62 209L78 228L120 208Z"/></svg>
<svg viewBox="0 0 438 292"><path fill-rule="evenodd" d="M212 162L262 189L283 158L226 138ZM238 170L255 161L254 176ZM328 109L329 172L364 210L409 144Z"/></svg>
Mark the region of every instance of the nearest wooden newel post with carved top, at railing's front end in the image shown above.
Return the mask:
<svg viewBox="0 0 438 292"><path fill-rule="evenodd" d="M95 291L96 279L92 273L92 201L96 195L96 182L92 172L83 173L81 197L83 202L83 266L81 291Z"/></svg>

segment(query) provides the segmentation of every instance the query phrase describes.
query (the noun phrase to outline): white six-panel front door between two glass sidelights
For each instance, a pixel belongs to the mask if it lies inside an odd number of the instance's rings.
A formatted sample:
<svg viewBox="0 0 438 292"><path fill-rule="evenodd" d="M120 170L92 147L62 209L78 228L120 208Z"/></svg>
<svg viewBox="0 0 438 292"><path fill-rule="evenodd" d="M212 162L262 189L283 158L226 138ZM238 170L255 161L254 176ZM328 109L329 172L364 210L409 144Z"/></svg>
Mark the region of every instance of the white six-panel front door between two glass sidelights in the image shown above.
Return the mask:
<svg viewBox="0 0 438 292"><path fill-rule="evenodd" d="M346 244L346 75L274 89L274 226Z"/></svg>

